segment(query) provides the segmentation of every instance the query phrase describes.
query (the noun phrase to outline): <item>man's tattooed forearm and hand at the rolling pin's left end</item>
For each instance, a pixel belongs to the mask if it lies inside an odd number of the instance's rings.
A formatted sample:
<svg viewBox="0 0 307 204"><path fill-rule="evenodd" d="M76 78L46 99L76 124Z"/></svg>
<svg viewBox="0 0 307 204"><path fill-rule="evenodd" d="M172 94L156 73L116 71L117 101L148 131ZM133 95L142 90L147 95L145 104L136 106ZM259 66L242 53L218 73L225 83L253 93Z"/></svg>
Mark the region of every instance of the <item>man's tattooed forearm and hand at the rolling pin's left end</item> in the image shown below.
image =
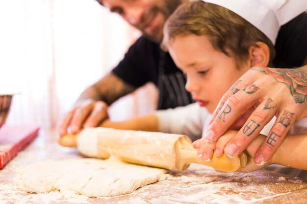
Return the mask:
<svg viewBox="0 0 307 204"><path fill-rule="evenodd" d="M77 100L77 105L67 113L59 127L59 135L70 132L76 134L84 127L97 127L108 118L107 104L136 88L124 82L115 74L109 73L92 86L85 89Z"/></svg>

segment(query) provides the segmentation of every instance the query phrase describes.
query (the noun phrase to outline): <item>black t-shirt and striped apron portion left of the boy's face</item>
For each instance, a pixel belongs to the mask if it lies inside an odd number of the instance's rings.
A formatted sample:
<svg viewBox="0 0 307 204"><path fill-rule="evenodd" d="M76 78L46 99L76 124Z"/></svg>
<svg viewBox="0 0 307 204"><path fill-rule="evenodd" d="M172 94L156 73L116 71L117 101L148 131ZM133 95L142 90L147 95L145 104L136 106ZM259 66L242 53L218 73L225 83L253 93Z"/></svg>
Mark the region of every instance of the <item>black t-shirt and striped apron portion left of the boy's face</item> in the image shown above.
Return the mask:
<svg viewBox="0 0 307 204"><path fill-rule="evenodd" d="M159 90L158 109L176 108L193 102L184 89L186 78L169 53L158 44L140 37L128 50L113 73L126 83L140 87L153 82Z"/></svg>

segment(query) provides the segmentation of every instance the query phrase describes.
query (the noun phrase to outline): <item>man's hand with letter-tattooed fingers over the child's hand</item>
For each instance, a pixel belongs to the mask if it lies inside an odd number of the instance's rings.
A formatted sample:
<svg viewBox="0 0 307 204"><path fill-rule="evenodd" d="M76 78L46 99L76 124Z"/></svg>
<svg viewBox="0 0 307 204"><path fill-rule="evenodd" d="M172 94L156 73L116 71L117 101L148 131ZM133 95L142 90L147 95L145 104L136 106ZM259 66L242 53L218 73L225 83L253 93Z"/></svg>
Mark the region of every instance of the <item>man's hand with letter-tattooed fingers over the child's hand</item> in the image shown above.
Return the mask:
<svg viewBox="0 0 307 204"><path fill-rule="evenodd" d="M307 117L307 66L251 68L222 97L205 138L215 142L227 130L239 130L225 147L225 153L235 157L274 115L277 119L254 158L258 165L271 159L296 119ZM203 152L205 158L212 157L210 151Z"/></svg>

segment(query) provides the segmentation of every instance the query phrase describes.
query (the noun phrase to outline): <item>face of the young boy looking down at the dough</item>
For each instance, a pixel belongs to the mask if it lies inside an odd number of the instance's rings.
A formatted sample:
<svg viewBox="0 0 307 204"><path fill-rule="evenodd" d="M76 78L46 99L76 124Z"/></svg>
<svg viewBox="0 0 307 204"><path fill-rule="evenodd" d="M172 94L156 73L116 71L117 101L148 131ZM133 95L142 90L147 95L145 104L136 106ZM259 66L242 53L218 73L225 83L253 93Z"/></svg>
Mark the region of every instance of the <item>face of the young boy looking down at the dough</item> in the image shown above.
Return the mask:
<svg viewBox="0 0 307 204"><path fill-rule="evenodd" d="M221 97L249 66L236 68L235 59L213 48L206 36L176 36L169 46L176 65L186 74L185 89L213 113Z"/></svg>

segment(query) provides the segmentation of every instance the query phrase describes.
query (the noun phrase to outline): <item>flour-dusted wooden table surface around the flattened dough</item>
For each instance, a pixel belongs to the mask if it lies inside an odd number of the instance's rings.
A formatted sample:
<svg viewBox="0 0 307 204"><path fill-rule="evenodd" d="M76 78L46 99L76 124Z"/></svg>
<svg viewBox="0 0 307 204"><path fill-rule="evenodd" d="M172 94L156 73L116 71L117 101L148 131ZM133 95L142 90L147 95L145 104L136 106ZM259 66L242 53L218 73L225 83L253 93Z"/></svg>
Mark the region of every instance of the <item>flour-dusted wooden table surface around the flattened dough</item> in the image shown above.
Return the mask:
<svg viewBox="0 0 307 204"><path fill-rule="evenodd" d="M131 194L88 198L60 192L29 194L15 189L16 168L46 159L82 157L76 149L61 147L56 131L41 130L39 136L0 170L0 204L307 204L307 181L270 171L218 173L192 164L185 171L172 171L164 181Z"/></svg>

